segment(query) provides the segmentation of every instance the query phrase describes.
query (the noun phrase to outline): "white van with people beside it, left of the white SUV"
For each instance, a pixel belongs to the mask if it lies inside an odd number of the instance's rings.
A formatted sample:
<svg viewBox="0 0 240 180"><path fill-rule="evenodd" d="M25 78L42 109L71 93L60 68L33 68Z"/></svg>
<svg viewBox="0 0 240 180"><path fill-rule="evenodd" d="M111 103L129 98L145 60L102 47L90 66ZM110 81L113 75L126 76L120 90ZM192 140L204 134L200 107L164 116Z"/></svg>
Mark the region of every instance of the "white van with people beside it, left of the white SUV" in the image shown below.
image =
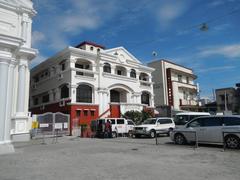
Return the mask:
<svg viewBox="0 0 240 180"><path fill-rule="evenodd" d="M103 136L101 135L103 133L102 124L105 124L108 120L111 122L112 126L112 137L132 134L132 130L135 126L132 120L125 118L103 118L95 120L97 136Z"/></svg>

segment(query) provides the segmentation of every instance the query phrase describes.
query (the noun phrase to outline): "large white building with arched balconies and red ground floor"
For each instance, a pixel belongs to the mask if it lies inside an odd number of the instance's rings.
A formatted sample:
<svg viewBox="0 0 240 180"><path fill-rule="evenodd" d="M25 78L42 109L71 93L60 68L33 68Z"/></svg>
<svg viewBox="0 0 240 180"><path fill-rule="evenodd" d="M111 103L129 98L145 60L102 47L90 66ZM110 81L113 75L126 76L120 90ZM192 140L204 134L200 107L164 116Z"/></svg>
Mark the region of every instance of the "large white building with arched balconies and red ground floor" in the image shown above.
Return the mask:
<svg viewBox="0 0 240 180"><path fill-rule="evenodd" d="M153 68L125 48L83 42L31 70L30 111L63 112L79 124L154 107Z"/></svg>

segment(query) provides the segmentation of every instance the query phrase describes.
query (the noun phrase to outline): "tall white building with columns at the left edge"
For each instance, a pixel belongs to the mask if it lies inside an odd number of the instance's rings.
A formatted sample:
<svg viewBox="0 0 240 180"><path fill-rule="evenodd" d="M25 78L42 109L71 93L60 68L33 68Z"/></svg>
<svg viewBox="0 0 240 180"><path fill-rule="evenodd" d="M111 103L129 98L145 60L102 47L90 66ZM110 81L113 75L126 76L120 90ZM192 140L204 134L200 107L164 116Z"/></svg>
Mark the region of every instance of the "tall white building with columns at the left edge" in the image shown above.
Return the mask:
<svg viewBox="0 0 240 180"><path fill-rule="evenodd" d="M30 0L0 0L0 144L5 147L29 138L28 66L37 53L31 48L35 14Z"/></svg>

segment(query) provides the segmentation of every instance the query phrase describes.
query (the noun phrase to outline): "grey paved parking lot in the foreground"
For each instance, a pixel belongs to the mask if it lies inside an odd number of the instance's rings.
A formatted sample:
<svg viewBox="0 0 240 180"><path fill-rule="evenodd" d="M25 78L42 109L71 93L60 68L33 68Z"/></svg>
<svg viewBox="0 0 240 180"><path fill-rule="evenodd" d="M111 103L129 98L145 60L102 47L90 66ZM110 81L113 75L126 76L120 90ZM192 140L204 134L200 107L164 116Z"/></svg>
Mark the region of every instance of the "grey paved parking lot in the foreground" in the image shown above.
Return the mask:
<svg viewBox="0 0 240 180"><path fill-rule="evenodd" d="M16 143L0 156L0 180L164 179L239 180L240 151L178 146L169 137L90 139L61 137Z"/></svg>

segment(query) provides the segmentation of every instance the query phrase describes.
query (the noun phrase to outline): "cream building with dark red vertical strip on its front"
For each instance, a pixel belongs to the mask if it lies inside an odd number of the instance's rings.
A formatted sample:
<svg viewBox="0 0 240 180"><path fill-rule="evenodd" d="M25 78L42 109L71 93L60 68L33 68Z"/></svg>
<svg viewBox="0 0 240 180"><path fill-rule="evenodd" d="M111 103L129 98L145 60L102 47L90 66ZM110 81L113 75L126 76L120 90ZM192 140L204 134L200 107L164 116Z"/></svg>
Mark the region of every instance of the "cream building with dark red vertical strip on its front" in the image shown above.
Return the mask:
<svg viewBox="0 0 240 180"><path fill-rule="evenodd" d="M157 109L171 108L173 111L191 110L197 107L197 76L192 69L167 60L153 61L154 101Z"/></svg>

